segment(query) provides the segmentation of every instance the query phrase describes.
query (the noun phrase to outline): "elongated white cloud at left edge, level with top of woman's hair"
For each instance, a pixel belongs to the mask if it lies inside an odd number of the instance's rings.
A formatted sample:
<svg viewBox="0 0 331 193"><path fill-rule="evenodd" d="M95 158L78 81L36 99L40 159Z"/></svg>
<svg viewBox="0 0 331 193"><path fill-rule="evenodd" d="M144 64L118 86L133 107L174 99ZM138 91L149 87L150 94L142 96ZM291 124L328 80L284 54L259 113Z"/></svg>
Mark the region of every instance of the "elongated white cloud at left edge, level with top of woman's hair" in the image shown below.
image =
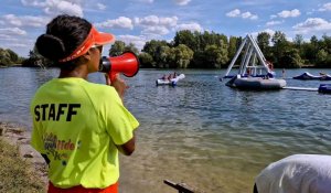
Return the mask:
<svg viewBox="0 0 331 193"><path fill-rule="evenodd" d="M14 25L14 26L34 26L40 28L46 25L49 18L45 17L31 17L22 15L17 17L14 14L6 14L2 17L3 23Z"/></svg>

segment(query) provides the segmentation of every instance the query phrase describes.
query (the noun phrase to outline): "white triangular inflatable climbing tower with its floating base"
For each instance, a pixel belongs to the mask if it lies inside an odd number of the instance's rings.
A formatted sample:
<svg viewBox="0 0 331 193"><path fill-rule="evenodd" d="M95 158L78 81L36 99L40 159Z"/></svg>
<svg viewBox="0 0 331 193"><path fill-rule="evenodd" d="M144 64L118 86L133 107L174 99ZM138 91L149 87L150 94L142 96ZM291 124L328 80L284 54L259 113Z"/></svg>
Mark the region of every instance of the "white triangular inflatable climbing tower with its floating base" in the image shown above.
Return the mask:
<svg viewBox="0 0 331 193"><path fill-rule="evenodd" d="M239 56L241 64L235 65ZM235 74L231 74L233 68L237 68ZM231 78L225 85L232 88L257 90L284 88L286 81L277 79L275 75L273 63L265 58L256 41L247 34L223 78Z"/></svg>

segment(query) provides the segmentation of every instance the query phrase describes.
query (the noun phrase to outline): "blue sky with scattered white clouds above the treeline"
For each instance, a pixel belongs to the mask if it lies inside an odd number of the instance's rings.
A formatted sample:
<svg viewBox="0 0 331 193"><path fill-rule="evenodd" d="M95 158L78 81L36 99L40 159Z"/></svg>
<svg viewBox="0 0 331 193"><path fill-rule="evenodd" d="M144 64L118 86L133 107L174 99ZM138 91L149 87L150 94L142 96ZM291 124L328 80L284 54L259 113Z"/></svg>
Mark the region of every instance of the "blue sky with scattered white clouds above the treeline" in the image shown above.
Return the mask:
<svg viewBox="0 0 331 193"><path fill-rule="evenodd" d="M180 30L229 36L281 31L309 41L331 35L331 0L1 0L0 47L26 57L57 14L87 19L98 31L141 50ZM110 45L109 45L110 49Z"/></svg>

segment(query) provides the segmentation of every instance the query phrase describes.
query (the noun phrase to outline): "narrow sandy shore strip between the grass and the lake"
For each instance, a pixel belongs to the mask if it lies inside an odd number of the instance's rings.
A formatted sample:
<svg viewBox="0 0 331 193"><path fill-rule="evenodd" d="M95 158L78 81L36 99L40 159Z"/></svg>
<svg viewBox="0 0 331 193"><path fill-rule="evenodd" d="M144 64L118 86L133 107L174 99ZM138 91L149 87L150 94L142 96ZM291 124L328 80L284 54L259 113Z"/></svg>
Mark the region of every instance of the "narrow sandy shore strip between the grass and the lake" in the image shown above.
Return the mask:
<svg viewBox="0 0 331 193"><path fill-rule="evenodd" d="M41 154L30 146L30 135L24 127L0 121L0 138L19 147L21 158L32 163L39 175L38 179L41 179L46 186L47 165Z"/></svg>

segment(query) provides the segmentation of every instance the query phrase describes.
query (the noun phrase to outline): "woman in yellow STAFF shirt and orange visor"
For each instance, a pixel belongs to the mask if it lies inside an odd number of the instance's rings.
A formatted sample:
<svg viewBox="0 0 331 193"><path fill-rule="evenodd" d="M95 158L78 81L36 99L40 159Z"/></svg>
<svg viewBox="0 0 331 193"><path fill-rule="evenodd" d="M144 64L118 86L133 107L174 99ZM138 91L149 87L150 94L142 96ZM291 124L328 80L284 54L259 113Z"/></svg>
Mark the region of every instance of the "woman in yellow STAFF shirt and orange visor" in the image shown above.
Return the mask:
<svg viewBox="0 0 331 193"><path fill-rule="evenodd" d="M38 52L60 67L31 101L32 147L49 164L49 193L117 193L118 152L135 151L138 120L124 106L126 83L87 81L98 72L102 50L115 41L90 22L57 15L35 42Z"/></svg>

